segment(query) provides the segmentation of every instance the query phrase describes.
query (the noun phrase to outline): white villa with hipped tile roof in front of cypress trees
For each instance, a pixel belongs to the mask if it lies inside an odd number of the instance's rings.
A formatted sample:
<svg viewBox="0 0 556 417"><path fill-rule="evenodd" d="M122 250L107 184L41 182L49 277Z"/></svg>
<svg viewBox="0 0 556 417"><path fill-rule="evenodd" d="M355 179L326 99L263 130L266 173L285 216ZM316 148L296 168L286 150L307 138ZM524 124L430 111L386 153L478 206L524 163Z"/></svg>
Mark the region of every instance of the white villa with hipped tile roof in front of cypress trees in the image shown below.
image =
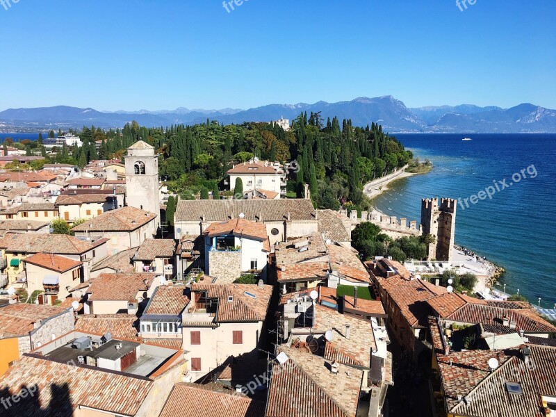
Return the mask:
<svg viewBox="0 0 556 417"><path fill-rule="evenodd" d="M239 178L243 182L245 195L249 195L253 190L260 190L263 194L265 191L270 191L286 195L286 172L278 162L262 162L258 158L253 158L249 162L234 165L227 174L230 177L230 190L234 190L236 179Z"/></svg>

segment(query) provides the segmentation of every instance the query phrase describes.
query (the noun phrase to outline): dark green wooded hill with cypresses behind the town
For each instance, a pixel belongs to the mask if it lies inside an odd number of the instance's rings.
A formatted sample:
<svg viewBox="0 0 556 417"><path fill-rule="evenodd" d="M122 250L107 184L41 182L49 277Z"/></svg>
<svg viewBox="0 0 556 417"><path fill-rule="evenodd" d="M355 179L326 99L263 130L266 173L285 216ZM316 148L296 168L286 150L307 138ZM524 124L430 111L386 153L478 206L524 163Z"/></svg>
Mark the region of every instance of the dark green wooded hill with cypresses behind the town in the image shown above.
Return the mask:
<svg viewBox="0 0 556 417"><path fill-rule="evenodd" d="M161 154L161 179L167 180L182 199L199 195L202 188L227 190L222 182L227 170L252 156L281 163L297 161L298 172L288 172L288 196L304 197L303 184L308 183L314 204L334 210L341 205L368 208L363 184L412 158L398 140L382 131L382 126L354 127L350 120L339 122L336 117L325 122L319 113L302 113L288 132L276 124L222 126L207 120L205 124L168 128L147 128L133 122L122 131L92 126L84 127L79 136L83 147L62 149L58 161L84 166L96 158L121 158L129 145L145 140ZM101 141L98 152L95 141Z"/></svg>

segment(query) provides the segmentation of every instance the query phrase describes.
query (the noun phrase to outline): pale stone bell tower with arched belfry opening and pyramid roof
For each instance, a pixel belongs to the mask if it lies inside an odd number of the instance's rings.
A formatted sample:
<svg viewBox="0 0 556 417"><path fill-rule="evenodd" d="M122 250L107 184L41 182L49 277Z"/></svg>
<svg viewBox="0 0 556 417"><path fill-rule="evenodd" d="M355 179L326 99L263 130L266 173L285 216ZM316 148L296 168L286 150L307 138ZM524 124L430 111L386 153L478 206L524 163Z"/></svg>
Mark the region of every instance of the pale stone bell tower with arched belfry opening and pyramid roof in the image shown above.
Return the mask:
<svg viewBox="0 0 556 417"><path fill-rule="evenodd" d="M154 147L140 140L127 148L126 202L128 206L156 214L161 224L161 202L158 193L158 156Z"/></svg>

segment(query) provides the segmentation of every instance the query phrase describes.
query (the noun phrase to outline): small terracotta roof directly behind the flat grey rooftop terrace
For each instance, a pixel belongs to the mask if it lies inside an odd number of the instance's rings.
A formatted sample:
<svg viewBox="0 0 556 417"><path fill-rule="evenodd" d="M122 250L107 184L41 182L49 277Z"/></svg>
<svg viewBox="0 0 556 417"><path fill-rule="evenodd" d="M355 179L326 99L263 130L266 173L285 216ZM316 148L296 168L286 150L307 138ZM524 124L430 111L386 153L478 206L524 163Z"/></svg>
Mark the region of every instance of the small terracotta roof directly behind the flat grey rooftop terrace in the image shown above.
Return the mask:
<svg viewBox="0 0 556 417"><path fill-rule="evenodd" d="M75 322L77 332L106 334L114 338L137 338L138 319L134 314L84 314Z"/></svg>

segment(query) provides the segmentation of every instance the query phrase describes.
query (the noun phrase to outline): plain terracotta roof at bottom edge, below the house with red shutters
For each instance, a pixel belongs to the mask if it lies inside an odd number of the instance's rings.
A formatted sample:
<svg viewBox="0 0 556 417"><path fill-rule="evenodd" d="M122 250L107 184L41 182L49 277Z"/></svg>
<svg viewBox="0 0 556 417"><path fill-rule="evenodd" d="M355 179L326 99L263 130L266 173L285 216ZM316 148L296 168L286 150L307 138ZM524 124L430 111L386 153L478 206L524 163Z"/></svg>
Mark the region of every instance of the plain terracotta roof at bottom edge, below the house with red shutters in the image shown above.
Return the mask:
<svg viewBox="0 0 556 417"><path fill-rule="evenodd" d="M202 400L199 400L202 399ZM175 384L160 417L259 417L265 404L223 384Z"/></svg>

